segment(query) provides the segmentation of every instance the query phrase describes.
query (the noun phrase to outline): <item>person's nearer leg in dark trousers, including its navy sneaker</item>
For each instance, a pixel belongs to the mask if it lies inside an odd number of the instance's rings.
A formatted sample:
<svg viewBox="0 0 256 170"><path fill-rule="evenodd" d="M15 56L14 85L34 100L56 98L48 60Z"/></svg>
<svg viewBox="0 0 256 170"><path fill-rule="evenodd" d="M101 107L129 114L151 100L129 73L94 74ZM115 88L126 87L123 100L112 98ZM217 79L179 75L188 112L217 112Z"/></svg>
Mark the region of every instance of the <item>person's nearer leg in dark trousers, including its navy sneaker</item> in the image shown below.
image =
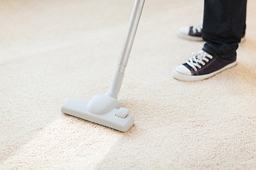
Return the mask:
<svg viewBox="0 0 256 170"><path fill-rule="evenodd" d="M174 68L183 81L207 79L235 66L236 50L245 27L247 0L205 0L203 50Z"/></svg>

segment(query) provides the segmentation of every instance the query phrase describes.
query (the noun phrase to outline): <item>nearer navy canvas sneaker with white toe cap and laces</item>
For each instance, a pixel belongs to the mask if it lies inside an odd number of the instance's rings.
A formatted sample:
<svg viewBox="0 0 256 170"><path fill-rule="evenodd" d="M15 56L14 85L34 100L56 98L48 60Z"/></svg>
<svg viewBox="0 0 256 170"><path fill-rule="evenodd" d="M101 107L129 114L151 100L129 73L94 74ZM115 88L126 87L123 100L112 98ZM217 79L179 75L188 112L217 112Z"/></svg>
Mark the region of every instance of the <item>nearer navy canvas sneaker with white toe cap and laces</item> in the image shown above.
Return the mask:
<svg viewBox="0 0 256 170"><path fill-rule="evenodd" d="M237 64L236 61L223 62L209 55L208 52L201 50L193 53L193 57L186 63L175 67L172 75L174 79L182 81L203 80L225 69L234 67L235 64Z"/></svg>

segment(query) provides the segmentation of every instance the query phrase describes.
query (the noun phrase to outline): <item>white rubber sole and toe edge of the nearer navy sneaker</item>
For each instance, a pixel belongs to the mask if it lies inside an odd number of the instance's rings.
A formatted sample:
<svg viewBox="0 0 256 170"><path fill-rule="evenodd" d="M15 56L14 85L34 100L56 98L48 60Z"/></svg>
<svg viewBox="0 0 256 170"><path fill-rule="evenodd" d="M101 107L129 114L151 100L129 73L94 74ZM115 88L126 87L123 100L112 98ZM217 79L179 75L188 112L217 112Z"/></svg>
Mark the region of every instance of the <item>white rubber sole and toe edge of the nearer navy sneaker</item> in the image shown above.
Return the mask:
<svg viewBox="0 0 256 170"><path fill-rule="evenodd" d="M205 75L201 75L201 76L192 76L192 75L182 74L180 72L177 72L176 69L174 69L172 76L174 77L174 79L178 79L181 81L199 81L199 80L208 79L210 77L213 77L215 74L223 72L225 69L230 69L231 67L234 67L236 64L238 64L238 62L235 61L231 64L226 65L222 69L219 69L210 74L205 74Z"/></svg>

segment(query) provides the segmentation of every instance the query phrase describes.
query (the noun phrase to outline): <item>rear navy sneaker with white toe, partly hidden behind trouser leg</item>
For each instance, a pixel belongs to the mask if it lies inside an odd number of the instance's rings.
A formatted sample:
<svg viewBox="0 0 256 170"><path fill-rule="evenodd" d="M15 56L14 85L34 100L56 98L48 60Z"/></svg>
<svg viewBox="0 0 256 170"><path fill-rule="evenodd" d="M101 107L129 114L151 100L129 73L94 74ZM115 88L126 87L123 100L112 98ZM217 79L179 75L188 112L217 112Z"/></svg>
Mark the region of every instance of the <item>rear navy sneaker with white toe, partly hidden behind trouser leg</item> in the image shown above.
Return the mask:
<svg viewBox="0 0 256 170"><path fill-rule="evenodd" d="M203 25L181 27L178 29L178 37L186 40L203 41L202 30L203 30ZM241 42L245 42L245 35L242 36Z"/></svg>

